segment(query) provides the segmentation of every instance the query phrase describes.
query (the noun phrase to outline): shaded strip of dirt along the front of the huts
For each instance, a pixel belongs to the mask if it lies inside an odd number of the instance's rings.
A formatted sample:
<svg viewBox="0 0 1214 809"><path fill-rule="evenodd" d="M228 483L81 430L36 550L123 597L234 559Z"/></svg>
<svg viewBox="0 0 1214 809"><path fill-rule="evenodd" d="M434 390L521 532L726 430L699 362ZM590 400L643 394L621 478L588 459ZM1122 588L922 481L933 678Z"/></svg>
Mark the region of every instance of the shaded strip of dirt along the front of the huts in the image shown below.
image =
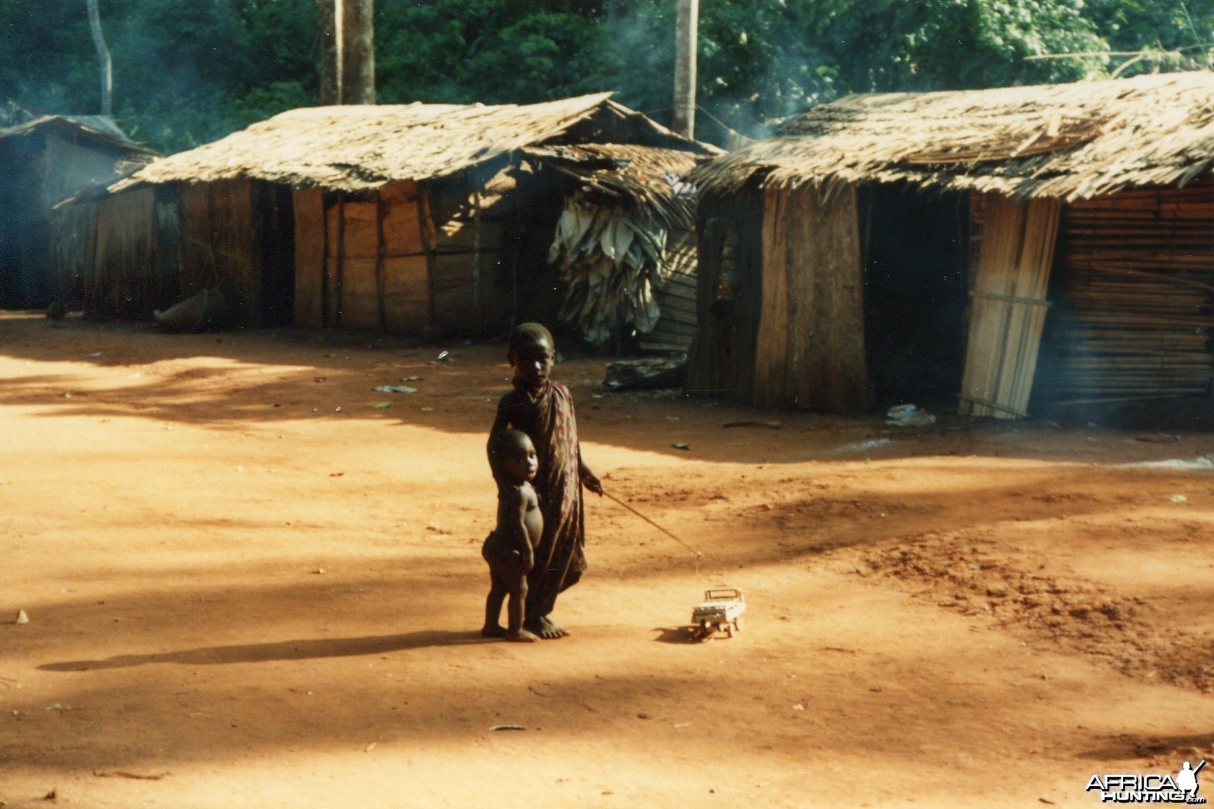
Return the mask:
<svg viewBox="0 0 1214 809"><path fill-rule="evenodd" d="M304 329L164 335L142 324L79 319L64 324L51 331L50 324L36 318L0 318L2 353L29 361L130 368L129 383L83 389L87 386L70 374L15 377L6 380L5 404L41 406L44 416L140 416L217 428L357 418L481 433L488 429L497 398L509 388L510 369L501 343L427 344L386 335ZM1117 451L1145 461L1192 457L1204 446L1193 445L1197 438L1172 445L1134 445L1133 433L1062 429L1049 422L975 421L948 414L938 414L941 421L935 427L898 429L878 416L762 411L690 399L677 392L609 392L600 384L607 359L577 346L563 351L568 359L557 366L554 378L574 393L583 440L690 462L863 462L934 455L1044 462L1099 457L1111 443L1125 440L1131 445ZM214 366L197 366L199 359L211 358ZM174 360L183 359L194 360L195 366L171 368ZM166 366L142 368L154 363ZM371 389L402 383L415 387L416 393Z"/></svg>

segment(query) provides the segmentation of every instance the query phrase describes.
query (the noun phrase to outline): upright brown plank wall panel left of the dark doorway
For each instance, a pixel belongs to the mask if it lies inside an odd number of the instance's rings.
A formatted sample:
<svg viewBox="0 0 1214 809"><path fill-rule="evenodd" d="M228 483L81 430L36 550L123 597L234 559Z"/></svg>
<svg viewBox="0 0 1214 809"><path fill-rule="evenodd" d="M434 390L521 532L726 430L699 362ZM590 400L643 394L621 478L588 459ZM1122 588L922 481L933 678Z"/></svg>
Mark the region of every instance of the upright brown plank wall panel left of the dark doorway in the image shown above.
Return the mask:
<svg viewBox="0 0 1214 809"><path fill-rule="evenodd" d="M768 188L753 404L867 409L856 188Z"/></svg>

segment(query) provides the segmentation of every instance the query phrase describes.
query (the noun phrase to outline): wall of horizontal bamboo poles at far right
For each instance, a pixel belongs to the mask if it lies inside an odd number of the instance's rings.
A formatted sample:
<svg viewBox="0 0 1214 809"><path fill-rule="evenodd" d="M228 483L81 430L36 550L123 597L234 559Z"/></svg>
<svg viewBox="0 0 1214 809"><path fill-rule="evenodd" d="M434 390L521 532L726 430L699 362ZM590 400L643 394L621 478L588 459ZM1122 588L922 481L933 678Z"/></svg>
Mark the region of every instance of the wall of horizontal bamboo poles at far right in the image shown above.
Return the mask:
<svg viewBox="0 0 1214 809"><path fill-rule="evenodd" d="M1214 186L1134 189L1067 210L1042 400L1208 393Z"/></svg>

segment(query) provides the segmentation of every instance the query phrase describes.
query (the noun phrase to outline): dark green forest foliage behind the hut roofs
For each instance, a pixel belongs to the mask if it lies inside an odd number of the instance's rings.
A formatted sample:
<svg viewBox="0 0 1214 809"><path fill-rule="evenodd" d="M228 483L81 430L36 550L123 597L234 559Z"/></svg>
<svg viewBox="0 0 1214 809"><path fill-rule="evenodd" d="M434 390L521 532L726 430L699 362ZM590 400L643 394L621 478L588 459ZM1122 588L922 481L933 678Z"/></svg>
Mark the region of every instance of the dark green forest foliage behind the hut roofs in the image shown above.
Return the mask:
<svg viewBox="0 0 1214 809"><path fill-rule="evenodd" d="M380 103L614 90L669 119L675 0L379 0ZM163 152L316 104L317 0L101 0L114 114ZM697 136L850 92L1208 69L1214 0L702 0ZM1076 53L1066 58L1034 58ZM0 4L0 101L95 114L85 0Z"/></svg>

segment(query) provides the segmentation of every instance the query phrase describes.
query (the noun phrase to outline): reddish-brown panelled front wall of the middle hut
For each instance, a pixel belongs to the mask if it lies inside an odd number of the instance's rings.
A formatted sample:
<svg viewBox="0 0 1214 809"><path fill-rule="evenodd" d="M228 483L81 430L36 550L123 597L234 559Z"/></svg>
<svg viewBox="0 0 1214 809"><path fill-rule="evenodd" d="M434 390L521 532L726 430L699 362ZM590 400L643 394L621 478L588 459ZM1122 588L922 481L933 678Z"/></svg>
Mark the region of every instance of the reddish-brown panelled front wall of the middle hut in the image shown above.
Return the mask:
<svg viewBox="0 0 1214 809"><path fill-rule="evenodd" d="M295 321L427 336L504 332L511 289L503 226L483 221L476 205L436 223L431 193L412 182L359 196L296 190ZM444 212L459 207L442 203Z"/></svg>

